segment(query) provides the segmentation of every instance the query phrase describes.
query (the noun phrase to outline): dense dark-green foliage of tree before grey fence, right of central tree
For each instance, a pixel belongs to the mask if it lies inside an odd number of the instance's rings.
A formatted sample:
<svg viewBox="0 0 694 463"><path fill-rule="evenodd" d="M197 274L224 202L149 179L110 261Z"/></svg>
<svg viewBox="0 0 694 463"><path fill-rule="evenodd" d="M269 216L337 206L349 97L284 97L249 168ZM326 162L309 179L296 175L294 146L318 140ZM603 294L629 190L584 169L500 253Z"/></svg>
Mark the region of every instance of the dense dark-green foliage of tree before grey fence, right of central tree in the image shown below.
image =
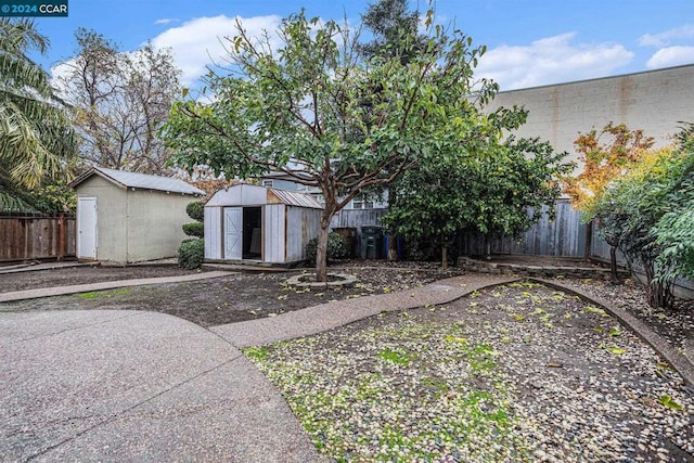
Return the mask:
<svg viewBox="0 0 694 463"><path fill-rule="evenodd" d="M558 179L573 167L562 162L565 153L538 140L509 138L501 144L490 137L473 149L465 162L444 158L407 172L384 218L389 229L444 246L460 230L518 236L540 218L528 210L553 204Z"/></svg>

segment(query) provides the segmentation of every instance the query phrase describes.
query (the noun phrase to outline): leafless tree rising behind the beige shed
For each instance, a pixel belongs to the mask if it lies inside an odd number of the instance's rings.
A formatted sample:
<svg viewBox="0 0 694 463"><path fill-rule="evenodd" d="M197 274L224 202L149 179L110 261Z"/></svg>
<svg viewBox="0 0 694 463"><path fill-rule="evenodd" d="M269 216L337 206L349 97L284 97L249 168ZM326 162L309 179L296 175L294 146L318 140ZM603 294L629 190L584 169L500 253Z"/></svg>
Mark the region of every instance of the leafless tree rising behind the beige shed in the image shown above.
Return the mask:
<svg viewBox="0 0 694 463"><path fill-rule="evenodd" d="M171 154L157 138L180 95L179 69L166 50L150 43L132 53L79 28L78 50L61 77L81 138L81 157L92 165L160 173Z"/></svg>

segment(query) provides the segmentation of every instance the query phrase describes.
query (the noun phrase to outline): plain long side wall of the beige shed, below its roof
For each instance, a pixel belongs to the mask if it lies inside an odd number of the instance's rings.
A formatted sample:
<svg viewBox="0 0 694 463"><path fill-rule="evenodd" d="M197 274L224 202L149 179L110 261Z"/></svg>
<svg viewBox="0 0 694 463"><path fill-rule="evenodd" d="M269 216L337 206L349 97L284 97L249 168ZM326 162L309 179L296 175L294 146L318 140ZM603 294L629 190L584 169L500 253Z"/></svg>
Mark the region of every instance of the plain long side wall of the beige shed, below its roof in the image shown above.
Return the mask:
<svg viewBox="0 0 694 463"><path fill-rule="evenodd" d="M127 261L175 257L187 237L181 227L194 221L185 214L185 206L195 200L159 191L129 191Z"/></svg>

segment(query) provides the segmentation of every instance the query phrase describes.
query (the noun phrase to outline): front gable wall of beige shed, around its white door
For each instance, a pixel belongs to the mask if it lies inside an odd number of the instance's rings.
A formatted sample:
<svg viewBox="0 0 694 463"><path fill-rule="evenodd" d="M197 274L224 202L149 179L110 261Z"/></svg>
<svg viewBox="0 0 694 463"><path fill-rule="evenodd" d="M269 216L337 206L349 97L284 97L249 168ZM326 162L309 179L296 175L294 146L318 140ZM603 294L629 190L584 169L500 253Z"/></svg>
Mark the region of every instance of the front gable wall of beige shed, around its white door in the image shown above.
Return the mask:
<svg viewBox="0 0 694 463"><path fill-rule="evenodd" d="M97 260L127 259L127 192L99 176L91 176L77 189L78 197L97 198Z"/></svg>

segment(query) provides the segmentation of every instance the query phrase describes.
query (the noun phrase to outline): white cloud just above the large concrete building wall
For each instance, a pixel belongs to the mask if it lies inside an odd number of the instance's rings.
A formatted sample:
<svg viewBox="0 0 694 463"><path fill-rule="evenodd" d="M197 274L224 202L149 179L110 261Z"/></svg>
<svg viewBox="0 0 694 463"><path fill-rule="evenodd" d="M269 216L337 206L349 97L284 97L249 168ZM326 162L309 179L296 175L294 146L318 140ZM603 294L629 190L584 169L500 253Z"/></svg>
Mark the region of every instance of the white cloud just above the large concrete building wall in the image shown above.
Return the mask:
<svg viewBox="0 0 694 463"><path fill-rule="evenodd" d="M571 43L576 33L536 40L529 46L488 49L475 69L501 90L601 77L629 64L634 53L618 43Z"/></svg>

